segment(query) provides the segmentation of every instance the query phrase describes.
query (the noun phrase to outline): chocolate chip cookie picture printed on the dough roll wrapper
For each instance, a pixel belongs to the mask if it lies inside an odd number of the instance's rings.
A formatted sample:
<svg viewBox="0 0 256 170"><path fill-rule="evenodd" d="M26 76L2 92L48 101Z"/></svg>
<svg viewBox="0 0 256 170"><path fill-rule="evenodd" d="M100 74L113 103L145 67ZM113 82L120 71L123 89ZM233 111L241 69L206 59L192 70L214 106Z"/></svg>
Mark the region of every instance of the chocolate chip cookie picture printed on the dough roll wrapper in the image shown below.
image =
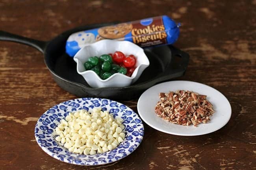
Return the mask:
<svg viewBox="0 0 256 170"><path fill-rule="evenodd" d="M106 26L98 29L98 34L103 38L117 39L122 38L132 31L132 24L122 23L114 26Z"/></svg>

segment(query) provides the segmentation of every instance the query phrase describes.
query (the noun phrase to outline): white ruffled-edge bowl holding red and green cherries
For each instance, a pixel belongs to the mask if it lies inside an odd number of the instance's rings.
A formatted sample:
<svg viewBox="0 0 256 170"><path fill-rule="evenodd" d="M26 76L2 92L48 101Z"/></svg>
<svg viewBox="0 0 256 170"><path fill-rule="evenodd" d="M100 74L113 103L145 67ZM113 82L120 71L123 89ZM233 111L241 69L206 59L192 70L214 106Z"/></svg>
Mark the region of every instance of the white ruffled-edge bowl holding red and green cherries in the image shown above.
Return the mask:
<svg viewBox="0 0 256 170"><path fill-rule="evenodd" d="M108 79L102 80L94 71L85 71L83 63L86 62L89 57L99 57L100 55L114 53L115 51L121 51L125 55L132 54L136 57L136 69L131 77L121 73L115 73ZM129 86L137 81L144 69L149 66L149 61L144 50L129 41L100 40L81 48L74 56L74 60L77 63L76 70L78 74L82 75L89 86L93 88L116 88Z"/></svg>

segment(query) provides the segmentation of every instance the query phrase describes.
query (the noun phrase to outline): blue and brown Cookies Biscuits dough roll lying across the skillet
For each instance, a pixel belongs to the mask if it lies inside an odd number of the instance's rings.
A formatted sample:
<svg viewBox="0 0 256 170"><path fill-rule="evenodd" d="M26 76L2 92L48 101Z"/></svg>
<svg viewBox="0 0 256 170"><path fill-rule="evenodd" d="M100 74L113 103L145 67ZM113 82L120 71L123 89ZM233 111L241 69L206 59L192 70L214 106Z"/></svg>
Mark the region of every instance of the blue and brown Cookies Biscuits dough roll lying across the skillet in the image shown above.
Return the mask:
<svg viewBox="0 0 256 170"><path fill-rule="evenodd" d="M67 39L66 53L74 57L83 46L103 39L126 40L141 47L173 44L180 34L179 26L163 15L80 31Z"/></svg>

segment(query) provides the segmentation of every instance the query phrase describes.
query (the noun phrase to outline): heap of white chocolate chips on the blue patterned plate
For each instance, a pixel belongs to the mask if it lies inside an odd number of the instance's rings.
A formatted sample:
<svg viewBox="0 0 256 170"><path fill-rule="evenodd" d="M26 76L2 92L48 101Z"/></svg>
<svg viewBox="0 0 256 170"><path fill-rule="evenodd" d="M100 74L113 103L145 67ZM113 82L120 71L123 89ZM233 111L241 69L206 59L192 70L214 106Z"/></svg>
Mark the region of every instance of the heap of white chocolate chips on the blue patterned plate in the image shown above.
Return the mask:
<svg viewBox="0 0 256 170"><path fill-rule="evenodd" d="M94 155L113 150L123 142L125 133L122 119L101 108L93 108L93 113L78 110L69 113L56 127L59 135L56 141L64 144L69 152L85 155Z"/></svg>

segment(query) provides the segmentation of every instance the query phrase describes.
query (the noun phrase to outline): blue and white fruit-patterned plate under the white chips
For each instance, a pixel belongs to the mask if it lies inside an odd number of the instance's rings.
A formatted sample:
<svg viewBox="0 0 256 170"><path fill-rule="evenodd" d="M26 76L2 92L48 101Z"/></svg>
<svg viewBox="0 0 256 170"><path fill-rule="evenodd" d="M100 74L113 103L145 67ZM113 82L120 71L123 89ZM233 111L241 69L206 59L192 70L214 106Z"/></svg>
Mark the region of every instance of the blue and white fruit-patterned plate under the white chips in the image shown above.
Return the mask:
<svg viewBox="0 0 256 170"><path fill-rule="evenodd" d="M113 117L121 117L125 126L123 132L125 139L117 148L95 155L74 154L57 142L55 137L56 126L60 120L68 115L69 112L76 110L89 110L101 107L108 110ZM39 146L50 156L71 164L76 165L102 165L111 163L131 154L141 143L144 134L144 127L139 116L130 108L116 101L100 98L80 98L62 102L47 110L35 125L35 139Z"/></svg>

